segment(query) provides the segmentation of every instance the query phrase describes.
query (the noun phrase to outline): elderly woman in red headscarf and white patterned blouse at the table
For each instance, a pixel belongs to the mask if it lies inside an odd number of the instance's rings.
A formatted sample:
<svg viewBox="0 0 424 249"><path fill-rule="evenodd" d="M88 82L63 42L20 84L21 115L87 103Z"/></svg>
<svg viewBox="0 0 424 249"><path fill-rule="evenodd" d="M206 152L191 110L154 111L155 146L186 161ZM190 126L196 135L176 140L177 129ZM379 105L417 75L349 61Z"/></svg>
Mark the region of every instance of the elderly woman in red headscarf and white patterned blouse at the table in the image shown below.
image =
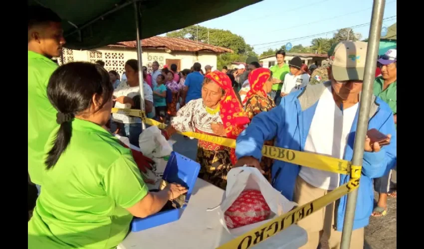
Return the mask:
<svg viewBox="0 0 424 249"><path fill-rule="evenodd" d="M176 131L194 131L235 139L249 122L231 80L216 70L205 75L202 98L182 107L164 133L169 137ZM236 161L234 149L199 140L197 161L201 164L199 177L225 189L227 172Z"/></svg>

